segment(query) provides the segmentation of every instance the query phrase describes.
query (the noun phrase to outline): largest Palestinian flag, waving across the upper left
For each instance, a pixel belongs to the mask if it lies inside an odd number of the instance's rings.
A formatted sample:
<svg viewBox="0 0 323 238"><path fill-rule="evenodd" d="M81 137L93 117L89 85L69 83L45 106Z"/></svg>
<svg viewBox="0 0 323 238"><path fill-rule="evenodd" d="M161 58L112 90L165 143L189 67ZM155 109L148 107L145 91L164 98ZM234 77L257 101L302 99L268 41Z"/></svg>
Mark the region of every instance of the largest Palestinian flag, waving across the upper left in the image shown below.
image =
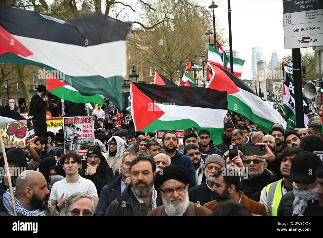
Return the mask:
<svg viewBox="0 0 323 238"><path fill-rule="evenodd" d="M0 7L0 62L36 65L83 96L104 95L123 108L130 28L130 23L99 14L63 21Z"/></svg>

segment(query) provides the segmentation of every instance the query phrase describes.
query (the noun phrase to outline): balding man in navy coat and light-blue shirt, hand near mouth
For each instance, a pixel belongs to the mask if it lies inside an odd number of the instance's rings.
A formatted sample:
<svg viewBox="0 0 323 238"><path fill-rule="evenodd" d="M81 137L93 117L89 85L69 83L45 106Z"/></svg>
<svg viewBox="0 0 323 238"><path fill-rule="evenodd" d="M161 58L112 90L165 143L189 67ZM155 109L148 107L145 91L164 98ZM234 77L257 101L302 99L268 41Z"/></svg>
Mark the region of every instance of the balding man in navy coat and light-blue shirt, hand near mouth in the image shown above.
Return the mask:
<svg viewBox="0 0 323 238"><path fill-rule="evenodd" d="M130 164L136 157L136 154L129 152L122 158L121 175L108 181L107 185L102 188L102 192L97 205L97 216L104 216L110 203L118 198L123 190L130 183Z"/></svg>

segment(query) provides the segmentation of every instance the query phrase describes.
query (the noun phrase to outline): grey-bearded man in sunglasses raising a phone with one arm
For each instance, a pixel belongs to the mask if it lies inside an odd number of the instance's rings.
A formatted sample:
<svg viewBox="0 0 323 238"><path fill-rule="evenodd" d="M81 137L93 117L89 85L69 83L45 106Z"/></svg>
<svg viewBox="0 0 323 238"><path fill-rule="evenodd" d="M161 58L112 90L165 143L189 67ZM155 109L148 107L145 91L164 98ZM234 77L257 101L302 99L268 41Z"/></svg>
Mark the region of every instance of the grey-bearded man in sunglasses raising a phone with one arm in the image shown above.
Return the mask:
<svg viewBox="0 0 323 238"><path fill-rule="evenodd" d="M271 152L265 143L257 143L265 147L265 155L245 155L245 167L248 171L248 178L241 183L241 191L248 198L259 202L261 190L268 184L276 182L282 175L273 174L267 169L267 162L273 162L276 156Z"/></svg>

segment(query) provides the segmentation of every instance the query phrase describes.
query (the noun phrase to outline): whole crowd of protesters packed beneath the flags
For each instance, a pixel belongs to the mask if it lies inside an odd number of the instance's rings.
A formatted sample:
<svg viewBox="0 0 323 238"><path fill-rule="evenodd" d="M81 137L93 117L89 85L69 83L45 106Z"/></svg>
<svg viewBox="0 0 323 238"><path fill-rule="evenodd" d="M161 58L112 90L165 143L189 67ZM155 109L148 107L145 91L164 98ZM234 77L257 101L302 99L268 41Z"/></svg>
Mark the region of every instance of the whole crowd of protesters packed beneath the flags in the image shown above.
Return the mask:
<svg viewBox="0 0 323 238"><path fill-rule="evenodd" d="M85 104L45 95L42 85L37 90L28 112L38 135L34 147L27 138L25 146L6 151L18 215L323 215L320 116L309 115L307 129L273 124L266 134L261 125L250 130L253 123L243 115L228 114L222 144L208 130L187 128L181 153L174 131L161 142L155 133L136 132L131 114L116 111L108 99L89 115ZM20 119L27 106L24 98L18 106L10 98L3 110ZM47 110L55 117L93 116L95 145L85 160L64 154L62 129L47 132ZM234 158L230 145L238 148ZM265 154L245 155L247 145L263 146ZM13 216L8 174L0 180L0 215Z"/></svg>

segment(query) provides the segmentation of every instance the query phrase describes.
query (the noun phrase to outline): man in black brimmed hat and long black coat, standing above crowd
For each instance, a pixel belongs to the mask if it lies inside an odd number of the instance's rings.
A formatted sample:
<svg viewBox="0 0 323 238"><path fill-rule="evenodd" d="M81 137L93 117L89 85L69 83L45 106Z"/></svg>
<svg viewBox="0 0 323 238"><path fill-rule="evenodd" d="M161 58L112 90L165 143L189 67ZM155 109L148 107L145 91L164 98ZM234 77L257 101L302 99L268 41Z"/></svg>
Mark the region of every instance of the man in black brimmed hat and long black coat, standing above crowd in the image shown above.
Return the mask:
<svg viewBox="0 0 323 238"><path fill-rule="evenodd" d="M46 94L46 87L44 85L38 85L35 87L37 93L30 99L29 116L34 117L34 127L36 128L37 135L41 136L47 132L46 125L46 106L48 103L48 97L45 96L42 99L43 94Z"/></svg>

